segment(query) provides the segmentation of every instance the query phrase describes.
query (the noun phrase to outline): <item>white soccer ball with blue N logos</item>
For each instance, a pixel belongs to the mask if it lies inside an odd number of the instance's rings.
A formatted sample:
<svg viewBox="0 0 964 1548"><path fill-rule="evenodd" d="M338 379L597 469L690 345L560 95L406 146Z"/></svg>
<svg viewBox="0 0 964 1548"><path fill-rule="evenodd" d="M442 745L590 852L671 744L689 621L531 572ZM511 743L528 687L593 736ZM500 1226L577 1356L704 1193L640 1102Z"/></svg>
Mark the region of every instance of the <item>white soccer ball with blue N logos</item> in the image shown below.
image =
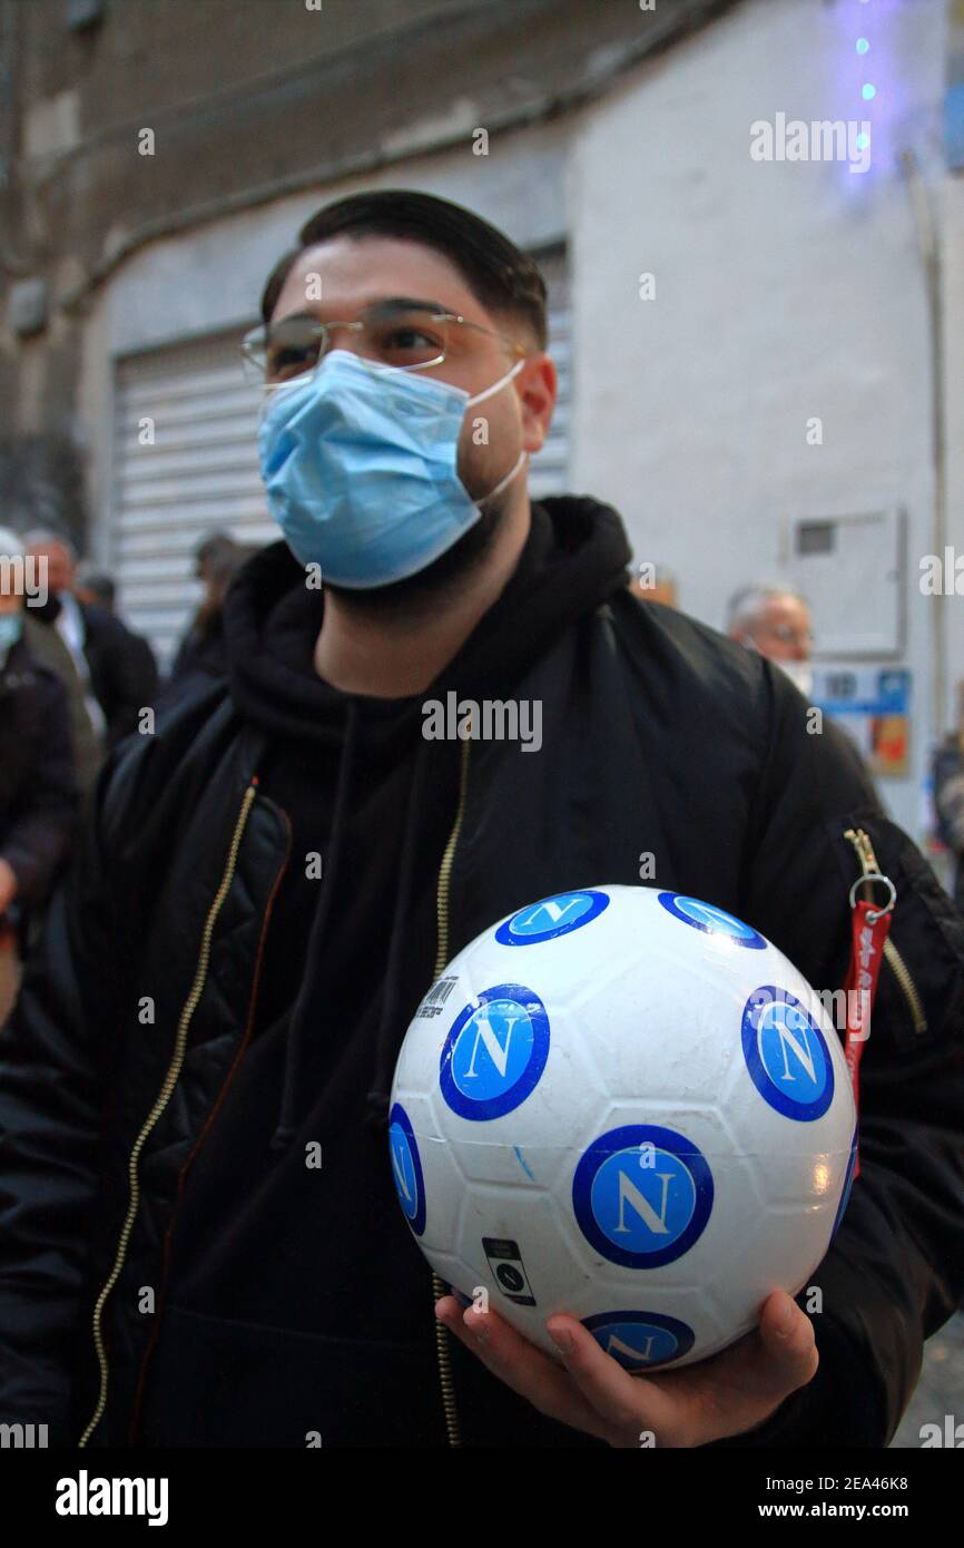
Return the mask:
<svg viewBox="0 0 964 1548"><path fill-rule="evenodd" d="M843 1050L803 975L723 909L586 887L446 968L398 1059L398 1197L432 1268L555 1354L566 1311L628 1370L706 1359L797 1294L854 1170Z"/></svg>

